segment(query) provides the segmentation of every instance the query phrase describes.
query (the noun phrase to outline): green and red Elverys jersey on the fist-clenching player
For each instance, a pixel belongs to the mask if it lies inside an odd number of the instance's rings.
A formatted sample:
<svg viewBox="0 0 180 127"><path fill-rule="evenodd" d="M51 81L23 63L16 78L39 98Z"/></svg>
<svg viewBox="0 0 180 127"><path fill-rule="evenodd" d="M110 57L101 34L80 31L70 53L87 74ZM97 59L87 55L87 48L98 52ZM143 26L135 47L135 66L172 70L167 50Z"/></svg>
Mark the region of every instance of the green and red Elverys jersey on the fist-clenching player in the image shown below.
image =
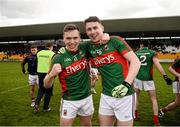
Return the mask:
<svg viewBox="0 0 180 127"><path fill-rule="evenodd" d="M64 53L56 54L52 61L62 66L59 81L65 100L81 100L90 95L87 44L80 44L78 48L75 53L65 49Z"/></svg>

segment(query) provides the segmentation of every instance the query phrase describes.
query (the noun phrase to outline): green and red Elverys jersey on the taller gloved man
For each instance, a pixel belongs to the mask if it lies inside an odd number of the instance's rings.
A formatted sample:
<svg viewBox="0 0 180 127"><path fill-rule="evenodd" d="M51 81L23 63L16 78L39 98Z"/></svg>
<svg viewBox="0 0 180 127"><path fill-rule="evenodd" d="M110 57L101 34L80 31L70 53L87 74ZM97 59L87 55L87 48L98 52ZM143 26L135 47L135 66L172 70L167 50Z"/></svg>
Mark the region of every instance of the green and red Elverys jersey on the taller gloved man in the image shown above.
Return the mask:
<svg viewBox="0 0 180 127"><path fill-rule="evenodd" d="M102 77L103 94L112 96L111 91L127 77L129 64L123 57L131 51L128 44L120 37L111 37L107 44L89 45L90 61ZM133 94L132 90L130 94Z"/></svg>

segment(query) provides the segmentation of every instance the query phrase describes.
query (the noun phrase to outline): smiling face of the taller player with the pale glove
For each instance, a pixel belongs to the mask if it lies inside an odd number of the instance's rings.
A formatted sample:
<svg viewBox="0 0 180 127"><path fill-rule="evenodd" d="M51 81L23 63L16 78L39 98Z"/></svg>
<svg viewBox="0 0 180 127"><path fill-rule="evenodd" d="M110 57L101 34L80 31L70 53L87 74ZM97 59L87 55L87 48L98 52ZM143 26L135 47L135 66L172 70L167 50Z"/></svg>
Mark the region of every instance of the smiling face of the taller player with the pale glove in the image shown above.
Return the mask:
<svg viewBox="0 0 180 127"><path fill-rule="evenodd" d="M93 43L99 43L103 38L104 27L99 22L86 23L86 34Z"/></svg>

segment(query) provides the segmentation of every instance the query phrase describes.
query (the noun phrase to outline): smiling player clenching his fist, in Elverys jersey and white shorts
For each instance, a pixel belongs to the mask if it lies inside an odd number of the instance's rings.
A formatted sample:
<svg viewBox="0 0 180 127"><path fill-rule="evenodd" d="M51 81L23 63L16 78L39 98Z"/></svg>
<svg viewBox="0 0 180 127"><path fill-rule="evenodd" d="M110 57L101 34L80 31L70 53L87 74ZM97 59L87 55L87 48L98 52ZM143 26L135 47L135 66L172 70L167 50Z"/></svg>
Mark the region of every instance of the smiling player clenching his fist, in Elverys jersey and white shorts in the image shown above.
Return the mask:
<svg viewBox="0 0 180 127"><path fill-rule="evenodd" d="M45 87L52 85L55 76L59 77L62 88L60 126L71 126L77 115L82 126L91 126L94 107L90 92L87 43L80 44L79 28L74 24L64 27L63 41L66 47L55 55L52 69L44 80Z"/></svg>

